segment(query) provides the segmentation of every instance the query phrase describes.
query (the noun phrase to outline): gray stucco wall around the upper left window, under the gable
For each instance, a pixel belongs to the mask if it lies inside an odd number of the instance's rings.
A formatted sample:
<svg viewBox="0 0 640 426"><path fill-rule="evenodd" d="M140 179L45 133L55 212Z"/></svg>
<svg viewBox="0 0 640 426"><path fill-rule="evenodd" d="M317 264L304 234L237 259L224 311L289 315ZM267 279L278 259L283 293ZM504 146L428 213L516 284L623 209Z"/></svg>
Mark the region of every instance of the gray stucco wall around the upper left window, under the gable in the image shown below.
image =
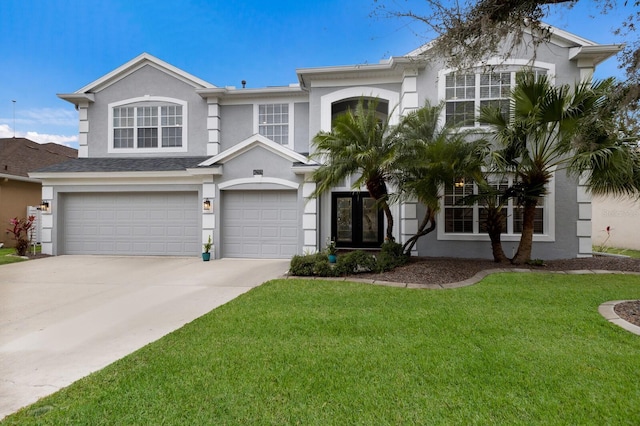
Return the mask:
<svg viewBox="0 0 640 426"><path fill-rule="evenodd" d="M187 102L188 128L186 129L188 151L171 153L172 156L202 156L207 154L207 103L195 89L152 67L144 66L126 78L95 94L95 102L89 104L88 146L90 157L130 157L131 153L108 152L109 104L138 97L160 96ZM183 132L185 130L183 129ZM151 153L140 150L135 155L162 157L166 153Z"/></svg>

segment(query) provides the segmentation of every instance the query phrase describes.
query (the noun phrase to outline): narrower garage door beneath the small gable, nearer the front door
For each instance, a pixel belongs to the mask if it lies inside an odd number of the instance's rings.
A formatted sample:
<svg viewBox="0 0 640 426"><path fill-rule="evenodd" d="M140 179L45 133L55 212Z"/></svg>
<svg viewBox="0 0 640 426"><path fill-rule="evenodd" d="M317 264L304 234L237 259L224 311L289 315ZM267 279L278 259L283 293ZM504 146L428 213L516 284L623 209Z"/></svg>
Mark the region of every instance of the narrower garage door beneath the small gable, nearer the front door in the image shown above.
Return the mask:
<svg viewBox="0 0 640 426"><path fill-rule="evenodd" d="M223 191L222 256L288 259L298 249L296 191Z"/></svg>

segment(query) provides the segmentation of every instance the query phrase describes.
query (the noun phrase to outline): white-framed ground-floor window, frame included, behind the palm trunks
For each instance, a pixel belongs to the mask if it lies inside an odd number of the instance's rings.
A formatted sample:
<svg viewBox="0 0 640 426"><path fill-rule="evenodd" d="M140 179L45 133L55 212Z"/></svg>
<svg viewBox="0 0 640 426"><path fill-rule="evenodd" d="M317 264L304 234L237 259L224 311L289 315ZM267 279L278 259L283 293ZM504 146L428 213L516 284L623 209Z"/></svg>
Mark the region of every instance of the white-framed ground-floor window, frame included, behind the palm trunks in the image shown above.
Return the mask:
<svg viewBox="0 0 640 426"><path fill-rule="evenodd" d="M501 180L490 181L494 188L504 190L513 185L513 177L506 176ZM534 241L555 240L554 190L555 179L552 177L547 186L547 194L538 200L534 219ZM478 186L474 182L451 184L443 188L442 208L438 214L439 240L489 240L485 220L487 210L478 203L461 204L460 201L469 195L478 194ZM509 199L503 208L504 223L503 241L517 241L522 232L523 208L517 201Z"/></svg>

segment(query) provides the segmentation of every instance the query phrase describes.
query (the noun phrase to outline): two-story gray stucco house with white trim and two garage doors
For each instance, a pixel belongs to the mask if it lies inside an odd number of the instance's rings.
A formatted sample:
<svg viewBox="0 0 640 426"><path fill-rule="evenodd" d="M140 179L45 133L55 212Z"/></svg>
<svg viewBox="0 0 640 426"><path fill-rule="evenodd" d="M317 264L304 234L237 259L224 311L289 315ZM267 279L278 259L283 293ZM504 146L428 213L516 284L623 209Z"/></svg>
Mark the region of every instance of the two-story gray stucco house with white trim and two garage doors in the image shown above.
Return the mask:
<svg viewBox="0 0 640 426"><path fill-rule="evenodd" d="M509 60L489 58L492 69L456 74L419 49L374 65L298 69L297 84L264 89L218 87L142 54L59 95L79 111L80 158L32 174L50 205L43 252L195 256L209 236L216 258L289 258L328 237L377 247L384 218L365 190L345 182L310 198L311 140L333 117L360 97L377 97L392 123L427 100L446 103L444 120L466 120L483 102L505 99L524 66L572 84L618 50L553 29L535 59L523 45ZM473 189L444 189L437 232L416 254L491 256L481 209L455 203ZM416 203L393 207L398 241L423 212ZM539 207L533 256L590 255L590 219L584 188L556 173ZM509 252L519 239L517 206L508 207L507 222Z"/></svg>

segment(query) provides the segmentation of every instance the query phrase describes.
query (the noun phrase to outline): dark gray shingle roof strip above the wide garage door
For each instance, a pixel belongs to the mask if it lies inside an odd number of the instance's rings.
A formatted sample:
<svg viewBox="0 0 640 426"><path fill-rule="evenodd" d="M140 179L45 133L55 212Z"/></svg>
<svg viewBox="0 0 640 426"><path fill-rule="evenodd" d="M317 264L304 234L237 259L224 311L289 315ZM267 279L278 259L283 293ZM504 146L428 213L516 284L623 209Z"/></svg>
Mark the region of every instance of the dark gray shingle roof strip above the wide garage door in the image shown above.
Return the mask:
<svg viewBox="0 0 640 426"><path fill-rule="evenodd" d="M195 168L209 157L77 158L37 170L38 173L167 172Z"/></svg>

